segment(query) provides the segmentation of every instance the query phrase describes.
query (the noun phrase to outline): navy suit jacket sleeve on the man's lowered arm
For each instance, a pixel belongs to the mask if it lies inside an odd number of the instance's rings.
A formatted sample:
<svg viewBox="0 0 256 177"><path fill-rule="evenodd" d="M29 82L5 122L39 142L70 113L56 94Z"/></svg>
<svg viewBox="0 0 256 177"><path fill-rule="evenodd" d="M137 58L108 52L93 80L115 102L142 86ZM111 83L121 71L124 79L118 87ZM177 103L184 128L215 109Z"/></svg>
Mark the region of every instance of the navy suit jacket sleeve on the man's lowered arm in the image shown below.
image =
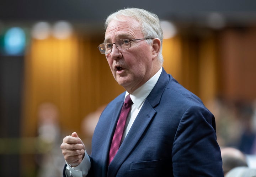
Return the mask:
<svg viewBox="0 0 256 177"><path fill-rule="evenodd" d="M223 176L216 138L214 116L205 107L189 107L174 138L174 176Z"/></svg>

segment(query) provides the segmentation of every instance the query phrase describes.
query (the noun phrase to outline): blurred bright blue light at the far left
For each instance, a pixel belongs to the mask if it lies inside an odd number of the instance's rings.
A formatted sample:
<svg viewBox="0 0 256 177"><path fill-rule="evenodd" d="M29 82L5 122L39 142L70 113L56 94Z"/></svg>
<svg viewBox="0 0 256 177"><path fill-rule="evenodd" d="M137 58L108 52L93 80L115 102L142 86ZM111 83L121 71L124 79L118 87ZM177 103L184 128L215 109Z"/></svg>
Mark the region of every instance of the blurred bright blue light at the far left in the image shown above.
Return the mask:
<svg viewBox="0 0 256 177"><path fill-rule="evenodd" d="M10 28L4 35L4 49L7 55L23 55L26 35L20 27Z"/></svg>

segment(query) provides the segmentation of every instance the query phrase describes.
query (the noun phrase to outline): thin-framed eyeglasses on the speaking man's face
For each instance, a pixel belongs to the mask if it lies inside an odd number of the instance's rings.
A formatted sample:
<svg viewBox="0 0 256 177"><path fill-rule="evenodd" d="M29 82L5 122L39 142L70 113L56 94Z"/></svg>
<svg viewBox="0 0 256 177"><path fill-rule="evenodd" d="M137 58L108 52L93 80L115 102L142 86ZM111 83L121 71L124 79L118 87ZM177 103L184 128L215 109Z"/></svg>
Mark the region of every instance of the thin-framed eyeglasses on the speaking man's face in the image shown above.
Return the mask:
<svg viewBox="0 0 256 177"><path fill-rule="evenodd" d="M116 44L118 50L126 50L131 47L131 41L134 40L147 40L147 39L154 39L154 38L141 38L141 39L119 39L114 43L102 43L98 46L101 54L109 54L112 51L113 44Z"/></svg>

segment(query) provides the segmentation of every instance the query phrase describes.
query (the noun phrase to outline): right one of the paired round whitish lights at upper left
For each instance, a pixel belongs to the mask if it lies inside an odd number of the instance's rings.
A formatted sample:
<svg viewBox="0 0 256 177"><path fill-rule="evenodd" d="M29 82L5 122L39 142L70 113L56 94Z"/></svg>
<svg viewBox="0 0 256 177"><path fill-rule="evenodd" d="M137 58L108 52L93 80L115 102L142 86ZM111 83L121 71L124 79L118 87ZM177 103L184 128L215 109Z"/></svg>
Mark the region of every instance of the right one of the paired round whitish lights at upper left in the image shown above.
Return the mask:
<svg viewBox="0 0 256 177"><path fill-rule="evenodd" d="M55 38L65 39L72 34L72 26L69 22L58 21L54 24L52 32Z"/></svg>

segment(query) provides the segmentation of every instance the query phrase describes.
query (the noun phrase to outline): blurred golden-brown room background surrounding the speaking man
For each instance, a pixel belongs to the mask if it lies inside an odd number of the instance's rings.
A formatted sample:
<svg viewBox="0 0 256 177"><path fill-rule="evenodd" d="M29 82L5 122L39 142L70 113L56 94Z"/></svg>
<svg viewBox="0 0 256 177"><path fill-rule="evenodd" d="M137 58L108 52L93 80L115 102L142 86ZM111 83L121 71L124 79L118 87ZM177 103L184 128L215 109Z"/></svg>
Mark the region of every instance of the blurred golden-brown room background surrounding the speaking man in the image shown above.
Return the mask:
<svg viewBox="0 0 256 177"><path fill-rule="evenodd" d="M1 0L1 176L61 176L74 131L90 153L102 109L124 92L97 49L124 7L159 16L165 70L213 112L220 146L256 164L256 1Z"/></svg>

